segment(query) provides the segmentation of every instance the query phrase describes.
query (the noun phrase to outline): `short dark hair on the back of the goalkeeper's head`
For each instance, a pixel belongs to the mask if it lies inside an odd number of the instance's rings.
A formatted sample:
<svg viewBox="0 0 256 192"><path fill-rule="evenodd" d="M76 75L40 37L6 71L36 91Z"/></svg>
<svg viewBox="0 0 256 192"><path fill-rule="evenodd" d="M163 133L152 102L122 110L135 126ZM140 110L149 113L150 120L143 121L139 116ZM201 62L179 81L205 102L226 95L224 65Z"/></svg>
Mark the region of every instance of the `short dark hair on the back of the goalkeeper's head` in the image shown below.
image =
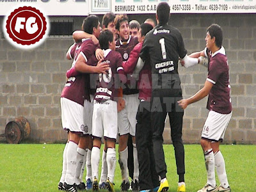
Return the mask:
<svg viewBox="0 0 256 192"><path fill-rule="evenodd" d="M168 22L170 18L170 6L166 2L159 3L157 5L157 11L156 11L159 24L164 25Z"/></svg>

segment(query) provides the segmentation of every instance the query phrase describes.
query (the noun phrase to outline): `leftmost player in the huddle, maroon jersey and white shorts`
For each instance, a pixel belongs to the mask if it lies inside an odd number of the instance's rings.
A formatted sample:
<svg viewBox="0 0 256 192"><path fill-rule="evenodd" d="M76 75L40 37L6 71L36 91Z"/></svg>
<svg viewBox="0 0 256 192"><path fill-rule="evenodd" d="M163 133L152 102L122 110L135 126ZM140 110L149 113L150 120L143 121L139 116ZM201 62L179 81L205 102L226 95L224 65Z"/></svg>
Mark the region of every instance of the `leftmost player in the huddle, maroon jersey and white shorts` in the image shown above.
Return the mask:
<svg viewBox="0 0 256 192"><path fill-rule="evenodd" d="M101 28L99 19L95 15L90 15L83 22L83 30L95 36L99 36ZM87 48L86 48L87 47ZM90 49L88 49L90 47ZM69 141L67 145L67 168L63 189L67 191L77 191L75 185L75 174L77 166L82 166L80 163L83 156L86 154L86 139L83 134L88 135L88 127L83 120L84 99L90 100L90 95L86 92L88 83L88 75L79 72L87 73L102 73L108 69L108 65L87 65L88 59L94 54L95 45L92 40L87 39L77 45L74 54L74 61L70 71L77 70L74 76L68 78L63 91L61 92L61 121L63 129L69 131ZM68 73L68 72L67 72ZM77 164L77 161L79 164ZM78 168L79 169L79 168ZM79 172L79 175L81 170Z"/></svg>

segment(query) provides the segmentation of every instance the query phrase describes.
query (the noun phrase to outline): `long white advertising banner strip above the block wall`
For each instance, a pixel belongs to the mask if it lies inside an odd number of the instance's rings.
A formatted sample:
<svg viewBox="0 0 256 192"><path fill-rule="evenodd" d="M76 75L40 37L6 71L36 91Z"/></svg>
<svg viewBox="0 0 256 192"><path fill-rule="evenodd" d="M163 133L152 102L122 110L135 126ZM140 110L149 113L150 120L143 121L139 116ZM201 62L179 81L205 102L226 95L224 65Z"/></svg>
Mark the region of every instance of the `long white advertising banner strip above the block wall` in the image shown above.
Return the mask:
<svg viewBox="0 0 256 192"><path fill-rule="evenodd" d="M113 13L156 13L166 1L171 13L256 13L256 0L0 0L0 15L12 6L36 6L49 16Z"/></svg>

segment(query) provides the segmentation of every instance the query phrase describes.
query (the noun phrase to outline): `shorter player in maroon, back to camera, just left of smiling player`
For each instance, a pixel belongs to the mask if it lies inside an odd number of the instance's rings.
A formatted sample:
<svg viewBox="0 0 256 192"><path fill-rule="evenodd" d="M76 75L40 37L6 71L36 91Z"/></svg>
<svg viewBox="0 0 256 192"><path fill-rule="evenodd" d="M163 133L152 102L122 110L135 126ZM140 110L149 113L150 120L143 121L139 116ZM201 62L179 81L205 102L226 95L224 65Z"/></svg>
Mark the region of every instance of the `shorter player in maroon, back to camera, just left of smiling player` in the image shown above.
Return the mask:
<svg viewBox="0 0 256 192"><path fill-rule="evenodd" d="M116 43L113 33L108 29L102 31L99 36L99 44L104 51L104 60L99 62L108 63L110 68L107 74L99 74L99 84L94 97L92 128L93 191L99 191L98 171L102 136L104 136L108 146L106 154L108 166L108 175L105 180L106 188L109 191L115 191L113 187L116 166L115 141L118 133L116 99L118 88L120 87L120 85L116 86L116 82L118 82L118 79L121 82L126 82L126 76L122 67L122 57L119 52L115 51Z"/></svg>

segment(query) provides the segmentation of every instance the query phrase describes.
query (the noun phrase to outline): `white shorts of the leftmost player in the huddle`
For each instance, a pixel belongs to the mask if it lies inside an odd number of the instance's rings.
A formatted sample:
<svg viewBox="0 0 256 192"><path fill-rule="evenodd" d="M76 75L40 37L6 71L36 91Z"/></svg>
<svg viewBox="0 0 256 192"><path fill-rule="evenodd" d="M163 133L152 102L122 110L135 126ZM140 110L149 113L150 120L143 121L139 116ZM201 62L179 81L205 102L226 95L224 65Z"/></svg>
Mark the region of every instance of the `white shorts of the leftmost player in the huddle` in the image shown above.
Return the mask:
<svg viewBox="0 0 256 192"><path fill-rule="evenodd" d="M60 99L60 106L63 129L85 134L83 120L84 107L81 106L81 104L64 97L61 97Z"/></svg>

